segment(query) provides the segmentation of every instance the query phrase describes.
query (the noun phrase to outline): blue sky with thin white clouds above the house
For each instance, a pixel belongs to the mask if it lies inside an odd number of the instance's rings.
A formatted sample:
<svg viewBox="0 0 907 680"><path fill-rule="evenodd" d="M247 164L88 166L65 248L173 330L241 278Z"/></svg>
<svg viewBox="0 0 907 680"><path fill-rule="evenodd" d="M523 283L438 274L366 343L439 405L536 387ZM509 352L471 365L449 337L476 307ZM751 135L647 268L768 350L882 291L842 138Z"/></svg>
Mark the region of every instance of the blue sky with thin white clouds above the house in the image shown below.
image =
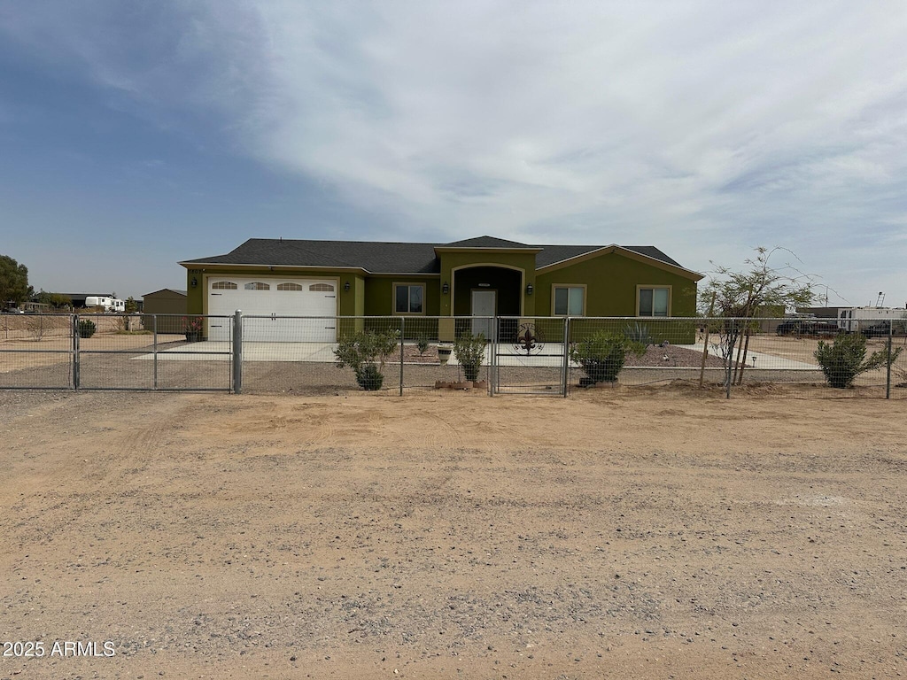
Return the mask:
<svg viewBox="0 0 907 680"><path fill-rule="evenodd" d="M907 4L0 4L0 254L141 296L246 238L756 246L907 302Z"/></svg>

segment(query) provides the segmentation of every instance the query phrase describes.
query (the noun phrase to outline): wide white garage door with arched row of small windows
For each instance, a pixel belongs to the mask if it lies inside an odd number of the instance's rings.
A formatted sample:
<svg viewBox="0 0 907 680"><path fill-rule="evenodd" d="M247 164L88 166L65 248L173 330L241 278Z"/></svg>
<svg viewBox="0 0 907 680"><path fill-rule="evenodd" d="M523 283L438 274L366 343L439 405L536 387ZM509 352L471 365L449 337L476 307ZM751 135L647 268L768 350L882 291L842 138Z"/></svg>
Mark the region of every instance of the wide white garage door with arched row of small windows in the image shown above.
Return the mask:
<svg viewBox="0 0 907 680"><path fill-rule="evenodd" d="M241 309L242 337L247 342L336 342L336 296L337 282L331 279L208 277L208 313L230 316ZM211 340L229 340L229 328L226 321L210 319L208 336Z"/></svg>

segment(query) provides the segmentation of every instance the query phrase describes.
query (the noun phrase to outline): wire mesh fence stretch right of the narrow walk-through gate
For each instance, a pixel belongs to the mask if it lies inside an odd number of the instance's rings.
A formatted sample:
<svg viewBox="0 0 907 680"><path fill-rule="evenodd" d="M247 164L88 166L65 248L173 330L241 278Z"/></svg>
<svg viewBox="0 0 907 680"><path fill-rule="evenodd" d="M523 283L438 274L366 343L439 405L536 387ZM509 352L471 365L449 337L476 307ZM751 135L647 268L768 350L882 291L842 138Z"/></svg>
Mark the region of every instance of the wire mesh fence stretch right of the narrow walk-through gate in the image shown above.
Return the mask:
<svg viewBox="0 0 907 680"><path fill-rule="evenodd" d="M829 396L907 397L907 355L899 350L907 334L883 319L851 330L835 319L790 318L571 318L569 325L571 387L684 381L730 396L799 384L832 388Z"/></svg>

